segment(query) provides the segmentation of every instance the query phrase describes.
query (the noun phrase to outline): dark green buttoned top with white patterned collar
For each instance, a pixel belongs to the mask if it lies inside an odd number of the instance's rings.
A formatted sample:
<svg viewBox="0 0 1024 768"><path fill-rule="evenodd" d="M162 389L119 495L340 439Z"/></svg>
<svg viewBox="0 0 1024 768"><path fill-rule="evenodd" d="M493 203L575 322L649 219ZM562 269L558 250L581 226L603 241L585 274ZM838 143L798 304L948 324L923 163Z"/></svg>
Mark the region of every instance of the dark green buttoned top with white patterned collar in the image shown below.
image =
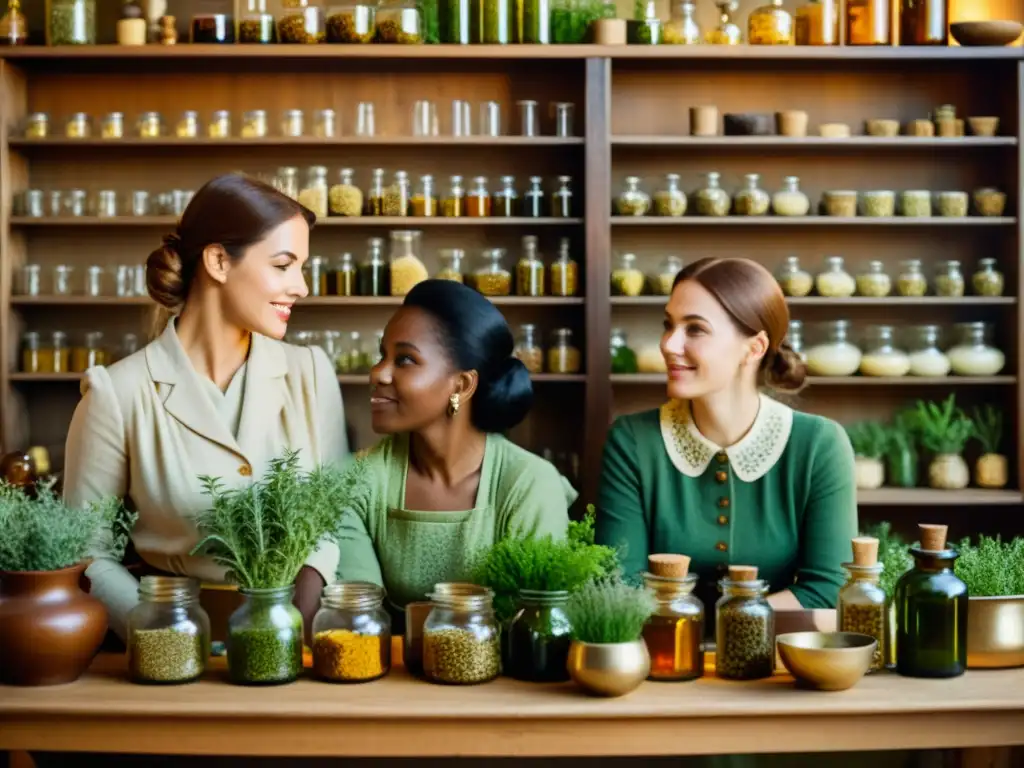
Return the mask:
<svg viewBox="0 0 1024 768"><path fill-rule="evenodd" d="M622 548L627 574L648 554L688 555L709 616L730 563L756 565L805 608L835 608L857 535L853 449L836 422L762 395L754 426L723 450L673 400L616 420L598 506L597 541Z"/></svg>

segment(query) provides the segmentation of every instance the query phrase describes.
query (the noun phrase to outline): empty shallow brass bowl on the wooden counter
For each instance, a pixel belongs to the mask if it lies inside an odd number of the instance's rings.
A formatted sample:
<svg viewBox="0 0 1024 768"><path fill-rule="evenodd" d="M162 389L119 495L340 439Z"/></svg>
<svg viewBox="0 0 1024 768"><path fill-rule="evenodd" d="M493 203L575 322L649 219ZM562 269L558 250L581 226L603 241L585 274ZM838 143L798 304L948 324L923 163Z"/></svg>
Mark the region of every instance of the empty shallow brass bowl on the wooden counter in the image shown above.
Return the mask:
<svg viewBox="0 0 1024 768"><path fill-rule="evenodd" d="M778 654L801 687L852 688L867 672L878 644L854 632L792 632L776 639Z"/></svg>

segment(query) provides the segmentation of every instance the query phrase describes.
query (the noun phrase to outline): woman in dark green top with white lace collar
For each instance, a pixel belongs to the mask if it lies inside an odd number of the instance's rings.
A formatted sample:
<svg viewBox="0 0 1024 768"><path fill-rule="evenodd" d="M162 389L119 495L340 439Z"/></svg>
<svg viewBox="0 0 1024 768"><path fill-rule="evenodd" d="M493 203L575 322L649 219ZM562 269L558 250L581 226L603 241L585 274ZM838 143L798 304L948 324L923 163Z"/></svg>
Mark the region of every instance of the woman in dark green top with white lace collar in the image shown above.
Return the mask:
<svg viewBox="0 0 1024 768"><path fill-rule="evenodd" d="M669 402L616 420L604 449L597 540L623 547L628 573L685 554L706 606L730 563L758 566L778 609L836 606L857 532L853 450L836 422L759 391L804 384L788 324L754 261L706 258L676 276Z"/></svg>

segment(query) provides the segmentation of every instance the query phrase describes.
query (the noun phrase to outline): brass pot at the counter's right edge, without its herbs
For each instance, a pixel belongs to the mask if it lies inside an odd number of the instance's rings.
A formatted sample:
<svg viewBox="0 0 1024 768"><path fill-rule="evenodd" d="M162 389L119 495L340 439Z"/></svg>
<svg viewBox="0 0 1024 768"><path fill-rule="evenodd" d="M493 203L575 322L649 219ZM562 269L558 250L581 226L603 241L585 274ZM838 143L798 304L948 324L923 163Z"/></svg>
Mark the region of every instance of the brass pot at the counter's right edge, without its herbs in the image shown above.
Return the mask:
<svg viewBox="0 0 1024 768"><path fill-rule="evenodd" d="M967 666L1024 667L1024 595L968 600Z"/></svg>

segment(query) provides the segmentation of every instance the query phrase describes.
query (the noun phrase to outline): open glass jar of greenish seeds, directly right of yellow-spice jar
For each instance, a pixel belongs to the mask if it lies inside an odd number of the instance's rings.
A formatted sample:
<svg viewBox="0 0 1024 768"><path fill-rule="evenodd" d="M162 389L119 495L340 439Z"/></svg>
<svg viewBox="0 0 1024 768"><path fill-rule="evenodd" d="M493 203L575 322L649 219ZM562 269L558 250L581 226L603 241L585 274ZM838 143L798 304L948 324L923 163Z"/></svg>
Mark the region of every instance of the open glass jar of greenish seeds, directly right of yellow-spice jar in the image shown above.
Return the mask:
<svg viewBox="0 0 1024 768"><path fill-rule="evenodd" d="M494 680L501 672L501 632L495 618L494 593L464 585L438 589L423 624L423 674L450 685Z"/></svg>

